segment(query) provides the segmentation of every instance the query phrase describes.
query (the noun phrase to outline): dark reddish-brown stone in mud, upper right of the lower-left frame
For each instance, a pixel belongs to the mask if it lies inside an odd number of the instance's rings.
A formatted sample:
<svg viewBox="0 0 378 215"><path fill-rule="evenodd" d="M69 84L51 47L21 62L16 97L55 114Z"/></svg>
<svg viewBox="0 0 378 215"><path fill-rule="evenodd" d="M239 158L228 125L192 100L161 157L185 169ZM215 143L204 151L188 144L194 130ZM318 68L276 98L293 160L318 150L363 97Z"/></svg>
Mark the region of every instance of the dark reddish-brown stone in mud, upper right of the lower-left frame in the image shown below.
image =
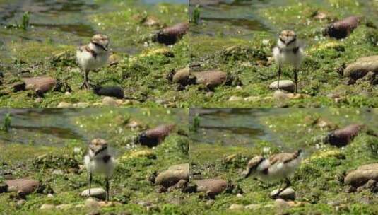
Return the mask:
<svg viewBox="0 0 378 215"><path fill-rule="evenodd" d="M153 129L148 129L139 134L138 143L148 147L157 146L174 128L175 124L162 124Z"/></svg>

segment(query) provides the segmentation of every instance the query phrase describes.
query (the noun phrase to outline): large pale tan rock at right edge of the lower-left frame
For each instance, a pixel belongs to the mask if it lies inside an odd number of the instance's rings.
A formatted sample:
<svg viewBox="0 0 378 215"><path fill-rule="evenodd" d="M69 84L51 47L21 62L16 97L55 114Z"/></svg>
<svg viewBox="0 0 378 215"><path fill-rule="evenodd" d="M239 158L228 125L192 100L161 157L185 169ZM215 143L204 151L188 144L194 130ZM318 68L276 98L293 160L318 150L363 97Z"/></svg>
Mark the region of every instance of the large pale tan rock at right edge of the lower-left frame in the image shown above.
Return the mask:
<svg viewBox="0 0 378 215"><path fill-rule="evenodd" d="M159 173L155 178L155 184L171 187L179 180L189 181L189 163L170 166L167 170Z"/></svg>

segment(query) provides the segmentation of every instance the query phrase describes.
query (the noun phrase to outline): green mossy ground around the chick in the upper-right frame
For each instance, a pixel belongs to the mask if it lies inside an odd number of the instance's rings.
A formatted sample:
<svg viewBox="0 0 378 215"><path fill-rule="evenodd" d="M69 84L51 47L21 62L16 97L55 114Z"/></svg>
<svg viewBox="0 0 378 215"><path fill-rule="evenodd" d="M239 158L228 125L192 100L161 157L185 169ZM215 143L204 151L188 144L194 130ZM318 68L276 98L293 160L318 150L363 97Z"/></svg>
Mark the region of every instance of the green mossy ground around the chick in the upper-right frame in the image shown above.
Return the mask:
<svg viewBox="0 0 378 215"><path fill-rule="evenodd" d="M191 62L195 65L201 62L202 69L220 69L230 74L238 74L242 81L242 88L235 86L221 86L215 89L211 98L191 97L195 107L361 107L377 106L377 86L368 83L358 83L345 86L345 79L338 74L338 68L348 65L360 57L376 55L378 31L367 27L369 21L376 21L375 13L367 13L372 3L360 1L283 1L283 4L254 9L251 13L264 23L270 31L255 30L252 35L238 35L235 30L231 35L222 32L228 29L204 23L197 27L192 25L194 34L189 37ZM240 9L242 10L242 9ZM328 19L319 21L312 15L319 11L325 13ZM345 40L335 40L322 35L322 29L334 18L346 16L364 16L360 26ZM197 28L212 29L214 35L199 34ZM292 29L305 43L306 58L299 73L299 93L310 95L309 98L277 101L273 99L273 91L268 89L271 82L276 81L277 66L274 62L268 64L259 62L259 58L225 58L213 60L219 52L232 46L242 47L242 50L260 50L266 57L271 57L271 48L276 45L276 35L283 29ZM235 52L234 56L242 56L242 52ZM204 62L202 59L206 59ZM290 67L284 67L284 79L293 80ZM281 78L282 79L282 78ZM335 100L327 95L340 95ZM232 96L249 100L228 101Z"/></svg>

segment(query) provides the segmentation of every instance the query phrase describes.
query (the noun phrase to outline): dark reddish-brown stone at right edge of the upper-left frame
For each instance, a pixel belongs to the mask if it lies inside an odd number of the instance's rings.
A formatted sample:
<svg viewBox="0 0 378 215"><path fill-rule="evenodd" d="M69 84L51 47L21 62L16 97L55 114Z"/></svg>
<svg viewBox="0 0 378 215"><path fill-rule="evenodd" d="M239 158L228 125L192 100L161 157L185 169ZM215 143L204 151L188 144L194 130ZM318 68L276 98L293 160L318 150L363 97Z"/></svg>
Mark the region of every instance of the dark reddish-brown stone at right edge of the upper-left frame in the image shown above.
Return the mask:
<svg viewBox="0 0 378 215"><path fill-rule="evenodd" d="M163 43L165 45L173 45L179 39L181 39L182 36L184 36L188 30L189 23L178 23L176 25L158 31L153 40L158 41L159 43Z"/></svg>

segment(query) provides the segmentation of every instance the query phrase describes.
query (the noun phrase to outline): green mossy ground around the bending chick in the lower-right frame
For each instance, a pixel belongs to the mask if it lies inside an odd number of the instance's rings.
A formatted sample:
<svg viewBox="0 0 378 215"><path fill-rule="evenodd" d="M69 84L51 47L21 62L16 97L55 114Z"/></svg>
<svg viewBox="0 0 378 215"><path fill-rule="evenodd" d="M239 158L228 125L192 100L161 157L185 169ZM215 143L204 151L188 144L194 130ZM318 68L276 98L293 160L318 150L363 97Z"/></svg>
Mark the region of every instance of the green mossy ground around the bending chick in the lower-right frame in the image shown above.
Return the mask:
<svg viewBox="0 0 378 215"><path fill-rule="evenodd" d="M369 112L367 114L367 112ZM206 198L196 199L197 214L376 214L377 194L369 190L346 192L343 177L348 170L359 165L377 162L377 137L360 133L345 148L321 144L319 136L329 129L321 129L312 124L317 117L323 117L338 127L351 123L364 123L374 129L377 110L366 109L292 109L284 115L259 118L266 129L278 136L283 143L278 146L269 141L254 141L253 147L228 146L228 144L205 144L194 142L190 148L192 171L197 178L223 178L242 190L242 197L236 193L223 193L215 197L215 203L206 204ZM191 136L198 135L192 133ZM253 178L243 179L242 171L249 158L264 153L303 149L304 160L293 177L293 189L300 206L278 210L269 198L278 183L265 183ZM232 156L233 155L233 156ZM199 194L200 195L200 194ZM259 209L230 210L231 204L259 204Z"/></svg>

